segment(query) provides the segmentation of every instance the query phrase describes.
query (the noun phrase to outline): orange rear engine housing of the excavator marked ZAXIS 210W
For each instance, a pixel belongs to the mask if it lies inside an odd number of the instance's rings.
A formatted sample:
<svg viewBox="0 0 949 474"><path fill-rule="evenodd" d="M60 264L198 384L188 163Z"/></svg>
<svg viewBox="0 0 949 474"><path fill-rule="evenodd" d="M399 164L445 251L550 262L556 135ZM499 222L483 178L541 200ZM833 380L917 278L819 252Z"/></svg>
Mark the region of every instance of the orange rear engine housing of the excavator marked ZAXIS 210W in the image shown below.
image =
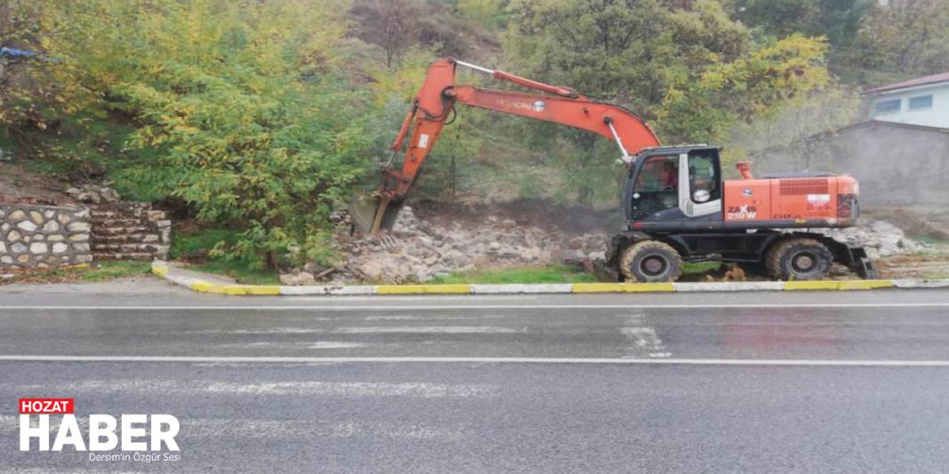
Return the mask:
<svg viewBox="0 0 949 474"><path fill-rule="evenodd" d="M826 227L847 227L859 212L857 180L849 175L724 182L722 212L726 222L818 221Z"/></svg>

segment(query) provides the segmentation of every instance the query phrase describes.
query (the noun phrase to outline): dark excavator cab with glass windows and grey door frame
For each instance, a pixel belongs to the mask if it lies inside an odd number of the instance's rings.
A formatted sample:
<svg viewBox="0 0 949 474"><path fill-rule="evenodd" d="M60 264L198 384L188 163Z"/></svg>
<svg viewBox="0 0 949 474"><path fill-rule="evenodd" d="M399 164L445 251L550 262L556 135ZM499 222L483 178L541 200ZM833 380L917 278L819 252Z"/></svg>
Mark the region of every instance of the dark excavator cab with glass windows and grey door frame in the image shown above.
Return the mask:
<svg viewBox="0 0 949 474"><path fill-rule="evenodd" d="M721 183L715 147L649 148L630 164L623 210L634 223L713 219L721 215Z"/></svg>

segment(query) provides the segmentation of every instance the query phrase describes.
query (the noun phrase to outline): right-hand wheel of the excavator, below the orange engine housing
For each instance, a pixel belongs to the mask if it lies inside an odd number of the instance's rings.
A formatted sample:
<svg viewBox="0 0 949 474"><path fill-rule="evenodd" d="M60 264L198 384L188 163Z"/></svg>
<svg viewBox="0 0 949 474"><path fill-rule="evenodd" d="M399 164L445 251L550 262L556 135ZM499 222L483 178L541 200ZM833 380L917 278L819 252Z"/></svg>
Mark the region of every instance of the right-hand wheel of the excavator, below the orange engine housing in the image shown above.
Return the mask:
<svg viewBox="0 0 949 474"><path fill-rule="evenodd" d="M833 254L814 239L793 237L778 242L768 250L765 266L768 273L781 280L820 280L827 276Z"/></svg>

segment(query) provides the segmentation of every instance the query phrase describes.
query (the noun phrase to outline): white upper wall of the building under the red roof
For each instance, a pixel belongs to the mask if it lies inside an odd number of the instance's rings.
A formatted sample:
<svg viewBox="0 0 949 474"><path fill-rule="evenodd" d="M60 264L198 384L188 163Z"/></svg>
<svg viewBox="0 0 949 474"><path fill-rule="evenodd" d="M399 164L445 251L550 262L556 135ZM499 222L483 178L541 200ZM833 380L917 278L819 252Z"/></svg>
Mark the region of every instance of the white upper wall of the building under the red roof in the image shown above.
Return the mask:
<svg viewBox="0 0 949 474"><path fill-rule="evenodd" d="M911 110L910 99L932 96L933 105L926 109ZM887 100L900 100L900 110L879 112L877 105ZM912 123L927 127L949 128L949 82L912 87L874 96L870 102L870 116L875 120Z"/></svg>

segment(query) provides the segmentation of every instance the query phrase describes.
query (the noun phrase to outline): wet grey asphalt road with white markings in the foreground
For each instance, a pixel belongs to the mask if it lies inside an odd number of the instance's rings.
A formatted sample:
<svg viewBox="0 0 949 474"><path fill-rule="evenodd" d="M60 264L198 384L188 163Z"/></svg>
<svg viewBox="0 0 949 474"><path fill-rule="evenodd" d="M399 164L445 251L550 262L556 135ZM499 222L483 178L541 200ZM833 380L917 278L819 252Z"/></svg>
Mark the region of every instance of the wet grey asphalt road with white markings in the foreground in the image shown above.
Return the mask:
<svg viewBox="0 0 949 474"><path fill-rule="evenodd" d="M0 289L0 472L946 472L947 362L941 290ZM20 452L25 396L74 397L81 420L172 413L181 460Z"/></svg>

